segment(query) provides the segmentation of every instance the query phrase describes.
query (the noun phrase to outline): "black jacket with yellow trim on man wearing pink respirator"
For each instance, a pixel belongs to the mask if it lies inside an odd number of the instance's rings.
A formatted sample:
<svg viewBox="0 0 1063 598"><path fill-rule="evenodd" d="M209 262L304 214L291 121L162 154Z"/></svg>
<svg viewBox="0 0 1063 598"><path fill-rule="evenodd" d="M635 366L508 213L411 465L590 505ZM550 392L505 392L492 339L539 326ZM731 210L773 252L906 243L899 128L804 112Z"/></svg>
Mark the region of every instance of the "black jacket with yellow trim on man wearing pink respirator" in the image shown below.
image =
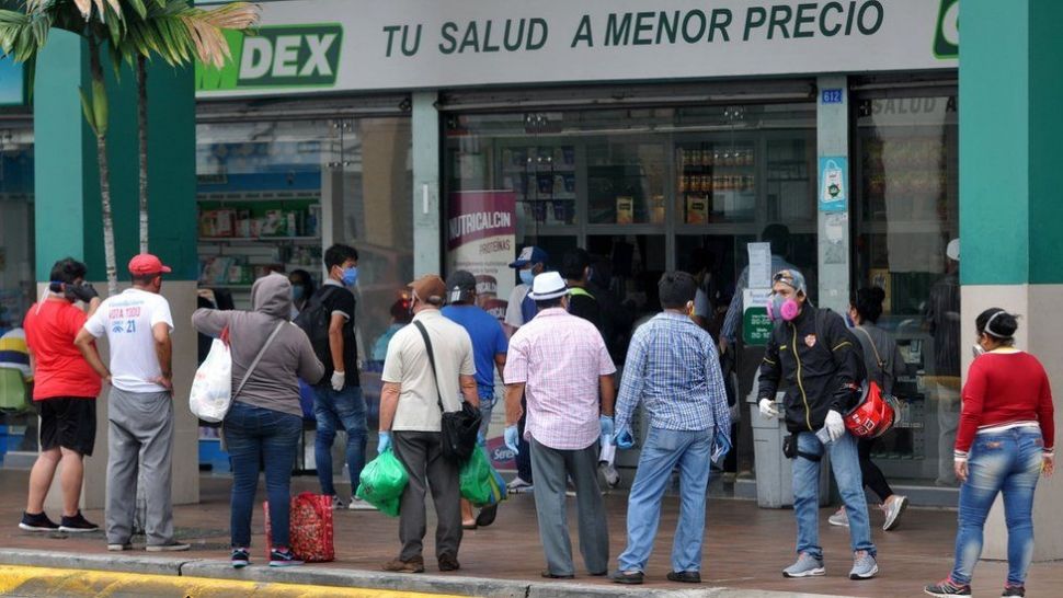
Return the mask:
<svg viewBox="0 0 1063 598"><path fill-rule="evenodd" d="M867 378L861 350L841 315L805 303L797 318L771 330L757 401L774 400L785 380L787 429L815 432L823 427L827 411L844 415L854 406L859 393L853 388Z"/></svg>

